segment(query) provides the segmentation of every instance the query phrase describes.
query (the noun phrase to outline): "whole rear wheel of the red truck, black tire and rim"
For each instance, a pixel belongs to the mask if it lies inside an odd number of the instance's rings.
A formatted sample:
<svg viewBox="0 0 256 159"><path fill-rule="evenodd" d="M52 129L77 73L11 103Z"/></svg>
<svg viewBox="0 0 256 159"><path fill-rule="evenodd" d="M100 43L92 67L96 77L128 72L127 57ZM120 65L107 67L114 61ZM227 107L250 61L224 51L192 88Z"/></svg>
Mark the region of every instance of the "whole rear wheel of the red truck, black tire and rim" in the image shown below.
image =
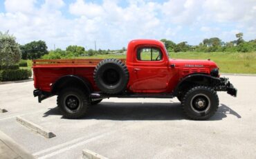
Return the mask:
<svg viewBox="0 0 256 159"><path fill-rule="evenodd" d="M89 105L89 98L79 88L65 88L57 96L57 106L62 115L68 119L82 118Z"/></svg>

